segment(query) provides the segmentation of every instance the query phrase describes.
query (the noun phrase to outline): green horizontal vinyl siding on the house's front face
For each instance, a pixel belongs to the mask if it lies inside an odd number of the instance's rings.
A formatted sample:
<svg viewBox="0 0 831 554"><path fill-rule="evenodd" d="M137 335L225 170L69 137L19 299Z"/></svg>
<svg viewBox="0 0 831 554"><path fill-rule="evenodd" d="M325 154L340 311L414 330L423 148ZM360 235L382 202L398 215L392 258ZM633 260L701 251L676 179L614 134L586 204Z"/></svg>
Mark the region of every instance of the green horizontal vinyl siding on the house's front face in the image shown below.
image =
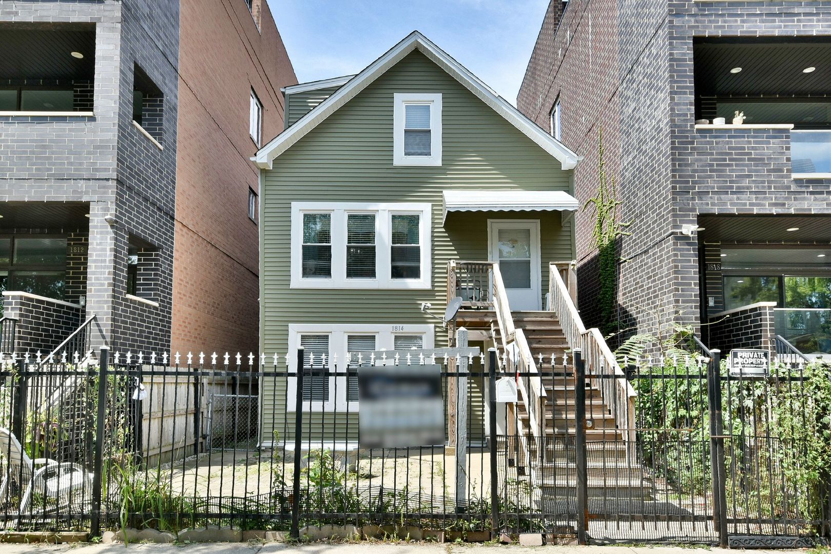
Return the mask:
<svg viewBox="0 0 831 554"><path fill-rule="evenodd" d="M441 167L392 165L394 92L442 94ZM487 220L540 220L543 295L548 262L573 259L571 224L557 212L450 213L441 222L444 189L524 189L569 191L563 171L538 145L484 105L459 82L414 52L337 110L265 171L263 186L261 351L288 348L289 323L435 324L420 312L431 302L442 313L447 262L488 259ZM303 290L289 288L292 202L424 202L433 205L432 290ZM436 326L435 346L447 344ZM274 385L277 390L274 390ZM285 382L263 383L263 439L271 424L283 433ZM319 417L319 416L315 416ZM480 416L479 416L480 417ZM356 415L351 414L356 423ZM293 421L293 419L292 419ZM346 414L325 423L327 439L344 440ZM351 425L352 426L352 425ZM288 435L291 432L285 429ZM352 431L351 431L352 432ZM337 434L334 436L333 434Z"/></svg>

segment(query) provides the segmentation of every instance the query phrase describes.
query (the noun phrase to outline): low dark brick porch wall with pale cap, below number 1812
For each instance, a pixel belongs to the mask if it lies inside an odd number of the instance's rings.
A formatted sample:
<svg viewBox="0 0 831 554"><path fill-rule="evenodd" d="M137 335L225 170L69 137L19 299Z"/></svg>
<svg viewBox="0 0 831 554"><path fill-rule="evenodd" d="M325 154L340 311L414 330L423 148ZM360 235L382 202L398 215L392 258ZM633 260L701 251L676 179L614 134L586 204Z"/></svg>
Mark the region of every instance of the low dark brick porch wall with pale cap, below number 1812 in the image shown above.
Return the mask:
<svg viewBox="0 0 831 554"><path fill-rule="evenodd" d="M3 316L17 320L14 351L47 355L81 325L81 306L27 294L7 294Z"/></svg>

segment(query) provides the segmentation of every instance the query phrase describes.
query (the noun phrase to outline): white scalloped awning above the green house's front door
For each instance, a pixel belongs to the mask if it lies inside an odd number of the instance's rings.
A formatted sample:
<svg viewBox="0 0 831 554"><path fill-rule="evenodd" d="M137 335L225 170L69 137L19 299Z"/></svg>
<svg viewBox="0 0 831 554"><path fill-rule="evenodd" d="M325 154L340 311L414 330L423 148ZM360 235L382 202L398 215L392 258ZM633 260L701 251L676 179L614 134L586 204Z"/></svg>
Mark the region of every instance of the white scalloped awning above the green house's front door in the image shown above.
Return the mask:
<svg viewBox="0 0 831 554"><path fill-rule="evenodd" d="M573 212L580 207L562 190L445 190L442 196L442 223L450 212Z"/></svg>

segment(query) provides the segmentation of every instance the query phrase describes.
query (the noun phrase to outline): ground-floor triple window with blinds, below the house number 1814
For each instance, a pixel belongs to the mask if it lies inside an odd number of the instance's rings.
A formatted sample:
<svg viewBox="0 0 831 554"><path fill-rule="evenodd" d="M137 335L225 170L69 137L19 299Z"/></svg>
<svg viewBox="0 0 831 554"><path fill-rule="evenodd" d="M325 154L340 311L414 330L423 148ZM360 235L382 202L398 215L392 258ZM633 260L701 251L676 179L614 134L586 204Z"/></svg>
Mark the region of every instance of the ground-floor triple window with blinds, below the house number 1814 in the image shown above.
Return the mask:
<svg viewBox="0 0 831 554"><path fill-rule="evenodd" d="M288 348L296 352L302 346L303 409L311 411L357 411L358 383L356 375L347 370L371 365L368 356L349 362L350 352L409 351L433 348L432 325L367 325L367 324L289 324ZM413 355L418 363L418 355ZM381 360L375 360L381 365ZM289 356L288 411L296 409L297 356Z"/></svg>

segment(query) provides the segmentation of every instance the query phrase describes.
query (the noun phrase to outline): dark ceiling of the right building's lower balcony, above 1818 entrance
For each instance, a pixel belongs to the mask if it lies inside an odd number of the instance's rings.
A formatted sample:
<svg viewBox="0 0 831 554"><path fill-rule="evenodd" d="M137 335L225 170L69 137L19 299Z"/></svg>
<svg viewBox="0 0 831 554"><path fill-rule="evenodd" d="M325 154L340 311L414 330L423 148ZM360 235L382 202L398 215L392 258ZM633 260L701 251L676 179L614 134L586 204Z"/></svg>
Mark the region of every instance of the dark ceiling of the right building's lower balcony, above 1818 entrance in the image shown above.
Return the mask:
<svg viewBox="0 0 831 554"><path fill-rule="evenodd" d="M706 243L831 244L831 216L705 215L698 224Z"/></svg>

